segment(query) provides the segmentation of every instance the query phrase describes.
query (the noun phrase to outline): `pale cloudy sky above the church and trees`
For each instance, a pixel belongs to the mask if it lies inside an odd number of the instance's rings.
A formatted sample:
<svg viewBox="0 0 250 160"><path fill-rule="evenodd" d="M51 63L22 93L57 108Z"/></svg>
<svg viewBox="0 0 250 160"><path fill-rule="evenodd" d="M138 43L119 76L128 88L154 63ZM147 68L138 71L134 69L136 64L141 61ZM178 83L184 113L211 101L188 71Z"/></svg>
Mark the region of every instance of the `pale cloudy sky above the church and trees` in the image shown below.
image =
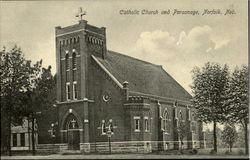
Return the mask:
<svg viewBox="0 0 250 160"><path fill-rule="evenodd" d="M17 44L26 59L42 59L55 73L55 27L77 24L79 7L89 24L106 27L109 50L162 65L189 93L195 66L210 61L233 70L248 64L247 0L1 1L1 49ZM221 14L202 16L206 9ZM235 14L224 15L227 9ZM124 15L122 10L140 14ZM170 15L161 14L168 10ZM172 15L175 10L199 15Z"/></svg>

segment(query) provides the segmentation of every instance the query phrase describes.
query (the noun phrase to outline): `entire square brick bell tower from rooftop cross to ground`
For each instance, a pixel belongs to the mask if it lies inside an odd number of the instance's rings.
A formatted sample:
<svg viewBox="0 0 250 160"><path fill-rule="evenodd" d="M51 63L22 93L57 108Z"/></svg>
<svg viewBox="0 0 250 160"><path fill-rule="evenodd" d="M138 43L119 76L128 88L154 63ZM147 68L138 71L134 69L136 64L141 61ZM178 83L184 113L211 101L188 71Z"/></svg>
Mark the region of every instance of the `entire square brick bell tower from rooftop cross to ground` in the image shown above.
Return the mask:
<svg viewBox="0 0 250 160"><path fill-rule="evenodd" d="M69 148L89 152L89 82L91 56L106 57L106 29L89 25L82 16L75 25L55 28L57 66L57 104L60 142ZM78 128L65 127L74 117ZM71 135L71 136L70 136ZM73 138L72 138L73 137ZM74 142L74 143L71 143Z"/></svg>

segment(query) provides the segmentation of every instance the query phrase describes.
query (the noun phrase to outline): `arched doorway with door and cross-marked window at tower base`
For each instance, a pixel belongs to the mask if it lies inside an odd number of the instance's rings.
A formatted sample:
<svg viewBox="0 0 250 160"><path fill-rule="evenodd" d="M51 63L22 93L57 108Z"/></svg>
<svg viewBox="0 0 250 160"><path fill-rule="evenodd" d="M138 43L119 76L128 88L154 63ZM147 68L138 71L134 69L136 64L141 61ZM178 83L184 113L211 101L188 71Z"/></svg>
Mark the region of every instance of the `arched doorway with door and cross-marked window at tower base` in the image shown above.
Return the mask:
<svg viewBox="0 0 250 160"><path fill-rule="evenodd" d="M78 119L69 114L64 123L64 129L67 130L67 141L69 150L80 150L80 129Z"/></svg>

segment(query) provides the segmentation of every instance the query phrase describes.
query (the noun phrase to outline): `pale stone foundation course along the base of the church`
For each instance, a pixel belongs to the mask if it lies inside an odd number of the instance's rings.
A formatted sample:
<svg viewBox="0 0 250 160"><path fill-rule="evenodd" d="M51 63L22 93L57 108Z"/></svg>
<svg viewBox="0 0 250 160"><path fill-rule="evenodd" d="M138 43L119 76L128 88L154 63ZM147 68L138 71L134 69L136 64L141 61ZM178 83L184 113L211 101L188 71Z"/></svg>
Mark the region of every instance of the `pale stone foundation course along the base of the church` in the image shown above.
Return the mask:
<svg viewBox="0 0 250 160"><path fill-rule="evenodd" d="M180 142L163 141L164 151L167 150L179 150ZM179 148L176 149L176 143L179 144ZM192 148L190 148L192 143ZM124 142L111 142L111 153L150 153L152 151L158 151L158 141L124 141ZM183 149L203 148L205 142L201 141L183 141ZM37 152L39 153L64 153L68 151L68 144L38 144ZM72 151L73 152L73 151ZM108 142L96 142L96 143L80 143L79 153L109 153Z"/></svg>

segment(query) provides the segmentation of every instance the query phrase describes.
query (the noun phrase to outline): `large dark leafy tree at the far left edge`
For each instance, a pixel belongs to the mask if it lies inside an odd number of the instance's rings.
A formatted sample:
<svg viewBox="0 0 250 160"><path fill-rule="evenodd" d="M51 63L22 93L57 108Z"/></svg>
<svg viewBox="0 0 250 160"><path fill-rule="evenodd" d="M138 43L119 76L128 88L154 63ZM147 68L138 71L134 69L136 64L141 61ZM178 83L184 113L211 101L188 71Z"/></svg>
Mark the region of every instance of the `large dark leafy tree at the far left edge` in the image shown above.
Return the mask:
<svg viewBox="0 0 250 160"><path fill-rule="evenodd" d="M1 132L5 131L5 127L8 130L7 137L2 137L1 140L7 140L8 153L11 155L11 124L22 123L24 92L32 85L32 79L37 76L42 62L32 65L17 46L9 52L4 49L0 56L1 117L8 122L7 126L2 126L1 123Z"/></svg>

